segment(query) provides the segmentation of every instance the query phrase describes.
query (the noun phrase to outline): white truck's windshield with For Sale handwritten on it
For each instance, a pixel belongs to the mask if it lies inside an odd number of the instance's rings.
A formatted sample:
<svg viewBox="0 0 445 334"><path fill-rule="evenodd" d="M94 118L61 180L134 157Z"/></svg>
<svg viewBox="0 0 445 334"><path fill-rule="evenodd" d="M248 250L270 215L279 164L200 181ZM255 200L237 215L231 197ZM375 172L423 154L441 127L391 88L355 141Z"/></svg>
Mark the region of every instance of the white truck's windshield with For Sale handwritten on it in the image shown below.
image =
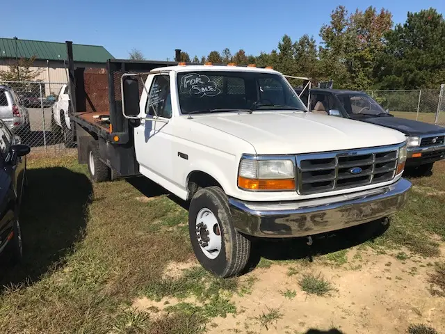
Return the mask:
<svg viewBox="0 0 445 334"><path fill-rule="evenodd" d="M300 110L305 106L278 74L196 71L178 74L181 113Z"/></svg>

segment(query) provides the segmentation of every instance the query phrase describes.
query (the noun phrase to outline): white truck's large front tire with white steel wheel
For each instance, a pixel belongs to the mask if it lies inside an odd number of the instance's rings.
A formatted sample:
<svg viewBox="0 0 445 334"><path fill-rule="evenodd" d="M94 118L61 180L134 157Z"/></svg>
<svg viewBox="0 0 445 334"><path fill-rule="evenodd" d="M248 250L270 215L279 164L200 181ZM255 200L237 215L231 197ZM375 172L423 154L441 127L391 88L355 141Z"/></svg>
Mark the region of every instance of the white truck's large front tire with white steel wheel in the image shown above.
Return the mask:
<svg viewBox="0 0 445 334"><path fill-rule="evenodd" d="M223 189L210 186L195 193L188 210L188 230L204 269L221 278L243 271L250 256L250 240L235 230Z"/></svg>

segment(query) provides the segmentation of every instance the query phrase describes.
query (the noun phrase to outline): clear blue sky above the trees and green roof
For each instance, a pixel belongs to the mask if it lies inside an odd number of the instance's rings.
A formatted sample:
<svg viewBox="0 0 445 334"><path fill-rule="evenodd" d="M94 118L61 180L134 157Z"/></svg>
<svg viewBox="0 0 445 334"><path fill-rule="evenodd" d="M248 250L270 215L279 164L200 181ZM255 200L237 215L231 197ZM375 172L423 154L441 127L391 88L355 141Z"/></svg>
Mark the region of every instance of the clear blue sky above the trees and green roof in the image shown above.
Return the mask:
<svg viewBox="0 0 445 334"><path fill-rule="evenodd" d="M0 37L104 45L116 58L127 58L134 47L146 58L159 60L171 60L175 48L192 57L225 47L232 54L242 48L256 55L275 49L284 34L296 40L307 33L319 40L321 25L329 22L338 5L350 12L357 7L384 7L395 23L405 22L408 11L433 7L445 13L445 0L76 0L40 1L37 6L33 0L18 0L15 4L1 17Z"/></svg>

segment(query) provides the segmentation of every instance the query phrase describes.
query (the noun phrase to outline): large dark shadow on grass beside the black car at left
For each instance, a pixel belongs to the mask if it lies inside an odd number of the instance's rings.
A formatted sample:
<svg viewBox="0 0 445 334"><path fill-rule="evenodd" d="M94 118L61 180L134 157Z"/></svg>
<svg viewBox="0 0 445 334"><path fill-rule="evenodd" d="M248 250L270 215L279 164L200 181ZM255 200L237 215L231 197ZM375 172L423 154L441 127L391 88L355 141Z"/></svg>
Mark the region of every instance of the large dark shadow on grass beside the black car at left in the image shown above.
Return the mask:
<svg viewBox="0 0 445 334"><path fill-rule="evenodd" d="M19 214L24 259L0 271L0 287L35 282L62 264L86 227L92 198L86 175L62 167L29 169L26 174L28 186Z"/></svg>

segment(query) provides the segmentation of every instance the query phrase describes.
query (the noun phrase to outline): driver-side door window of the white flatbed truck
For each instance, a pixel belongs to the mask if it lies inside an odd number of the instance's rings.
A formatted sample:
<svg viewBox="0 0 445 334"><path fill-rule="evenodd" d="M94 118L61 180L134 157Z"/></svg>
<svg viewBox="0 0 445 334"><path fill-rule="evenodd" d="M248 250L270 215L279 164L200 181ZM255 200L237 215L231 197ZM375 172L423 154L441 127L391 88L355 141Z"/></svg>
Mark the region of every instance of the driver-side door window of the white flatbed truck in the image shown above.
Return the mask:
<svg viewBox="0 0 445 334"><path fill-rule="evenodd" d="M145 113L147 115L172 118L172 100L170 97L170 77L156 75L150 87Z"/></svg>

